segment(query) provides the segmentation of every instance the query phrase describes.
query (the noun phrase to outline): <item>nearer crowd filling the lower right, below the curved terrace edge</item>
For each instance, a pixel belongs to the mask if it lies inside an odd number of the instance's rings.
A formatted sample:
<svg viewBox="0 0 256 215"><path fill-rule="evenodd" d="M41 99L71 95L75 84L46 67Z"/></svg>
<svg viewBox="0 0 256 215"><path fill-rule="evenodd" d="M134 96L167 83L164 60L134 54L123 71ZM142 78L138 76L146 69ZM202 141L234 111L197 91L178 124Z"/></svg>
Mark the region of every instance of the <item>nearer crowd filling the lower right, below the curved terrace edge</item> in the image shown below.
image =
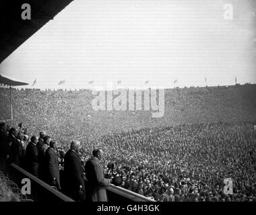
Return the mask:
<svg viewBox="0 0 256 215"><path fill-rule="evenodd" d="M20 136L25 146L27 136ZM63 169L69 144L58 146ZM104 151L105 177L119 178L117 185L156 201L256 200L253 124L184 124L104 135L82 142L82 167L94 148ZM232 180L230 194L224 193L224 179Z"/></svg>

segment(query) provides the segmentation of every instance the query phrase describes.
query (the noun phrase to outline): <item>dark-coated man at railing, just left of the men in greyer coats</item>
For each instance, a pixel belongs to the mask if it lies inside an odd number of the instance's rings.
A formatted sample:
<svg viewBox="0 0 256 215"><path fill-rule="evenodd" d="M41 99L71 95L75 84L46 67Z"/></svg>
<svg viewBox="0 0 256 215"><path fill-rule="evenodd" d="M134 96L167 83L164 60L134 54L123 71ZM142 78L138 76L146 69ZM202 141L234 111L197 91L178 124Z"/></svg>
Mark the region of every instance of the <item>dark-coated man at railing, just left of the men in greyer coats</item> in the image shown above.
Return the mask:
<svg viewBox="0 0 256 215"><path fill-rule="evenodd" d="M38 137L32 136L26 148L26 167L29 173L38 177Z"/></svg>

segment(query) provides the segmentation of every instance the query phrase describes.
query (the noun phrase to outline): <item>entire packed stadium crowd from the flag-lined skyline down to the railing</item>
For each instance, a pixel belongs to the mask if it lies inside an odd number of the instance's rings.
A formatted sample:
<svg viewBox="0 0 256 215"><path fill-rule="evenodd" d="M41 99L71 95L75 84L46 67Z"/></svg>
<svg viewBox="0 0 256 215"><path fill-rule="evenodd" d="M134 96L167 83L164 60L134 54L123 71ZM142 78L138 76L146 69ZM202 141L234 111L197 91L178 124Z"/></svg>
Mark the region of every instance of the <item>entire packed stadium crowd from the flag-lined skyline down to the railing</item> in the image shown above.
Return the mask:
<svg viewBox="0 0 256 215"><path fill-rule="evenodd" d="M3 118L9 90L0 92ZM256 85L168 89L164 117L151 118L94 112L89 90L13 90L10 126L23 122L29 136L44 130L65 151L81 140L84 163L102 148L106 177L121 175L121 187L157 201L255 201L255 95ZM223 193L228 177L232 195Z"/></svg>

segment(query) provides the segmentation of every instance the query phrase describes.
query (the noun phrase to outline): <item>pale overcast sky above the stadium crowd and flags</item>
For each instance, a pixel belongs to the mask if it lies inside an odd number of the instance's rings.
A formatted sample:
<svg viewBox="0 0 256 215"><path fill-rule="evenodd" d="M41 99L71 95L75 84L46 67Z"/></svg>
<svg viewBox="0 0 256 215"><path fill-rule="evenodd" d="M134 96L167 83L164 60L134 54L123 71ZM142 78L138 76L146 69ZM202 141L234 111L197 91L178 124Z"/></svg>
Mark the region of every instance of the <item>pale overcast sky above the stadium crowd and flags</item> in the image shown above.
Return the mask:
<svg viewBox="0 0 256 215"><path fill-rule="evenodd" d="M226 3L232 20L224 19ZM92 80L124 87L233 85L235 77L256 83L255 3L75 0L6 58L0 73L28 87L36 79L42 89L86 88Z"/></svg>

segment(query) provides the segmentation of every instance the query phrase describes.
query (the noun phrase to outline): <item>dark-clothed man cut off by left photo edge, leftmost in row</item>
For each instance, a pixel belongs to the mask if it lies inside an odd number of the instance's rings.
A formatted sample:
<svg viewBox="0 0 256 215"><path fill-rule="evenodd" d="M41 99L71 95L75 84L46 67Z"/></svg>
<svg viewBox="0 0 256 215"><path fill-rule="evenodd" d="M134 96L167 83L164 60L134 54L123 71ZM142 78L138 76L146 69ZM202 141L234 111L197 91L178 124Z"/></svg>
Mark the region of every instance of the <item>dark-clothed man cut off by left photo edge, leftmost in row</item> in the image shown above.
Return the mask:
<svg viewBox="0 0 256 215"><path fill-rule="evenodd" d="M7 159L9 159L9 146L7 145L7 123L0 123L0 171L6 173Z"/></svg>

